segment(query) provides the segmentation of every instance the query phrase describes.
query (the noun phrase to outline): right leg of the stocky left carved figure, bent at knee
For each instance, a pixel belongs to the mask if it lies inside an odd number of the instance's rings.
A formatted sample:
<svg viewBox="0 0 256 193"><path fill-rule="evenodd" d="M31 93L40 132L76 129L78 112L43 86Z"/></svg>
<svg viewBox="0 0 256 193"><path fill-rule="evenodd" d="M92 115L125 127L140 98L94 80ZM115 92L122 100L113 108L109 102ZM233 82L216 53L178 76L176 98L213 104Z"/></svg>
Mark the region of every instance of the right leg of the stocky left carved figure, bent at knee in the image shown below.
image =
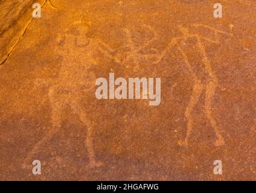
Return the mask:
<svg viewBox="0 0 256 193"><path fill-rule="evenodd" d="M72 110L78 115L80 121L86 125L87 134L85 139L85 144L88 151L89 157L89 168L94 168L103 165L102 162L97 162L95 159L94 147L93 147L93 129L95 128L94 124L88 119L88 115L83 111L82 107L78 104L78 101L69 101Z"/></svg>

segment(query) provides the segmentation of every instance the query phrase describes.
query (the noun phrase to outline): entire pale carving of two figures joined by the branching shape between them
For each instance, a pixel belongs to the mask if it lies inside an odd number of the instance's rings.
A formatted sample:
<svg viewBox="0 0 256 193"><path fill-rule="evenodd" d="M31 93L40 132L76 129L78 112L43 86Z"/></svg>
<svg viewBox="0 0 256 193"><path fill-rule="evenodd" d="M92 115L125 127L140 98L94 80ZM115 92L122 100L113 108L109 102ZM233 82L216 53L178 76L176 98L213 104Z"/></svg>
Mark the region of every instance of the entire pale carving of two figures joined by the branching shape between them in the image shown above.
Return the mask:
<svg viewBox="0 0 256 193"><path fill-rule="evenodd" d="M208 37L204 37L200 34L191 33L191 31L188 28L179 26L179 30L182 33L182 36L179 37L173 37L168 45L162 50L158 51L153 48L150 48L155 51L155 54L142 54L141 51L143 49L146 49L147 46L150 46L151 43L153 43L155 40L159 38L156 31L147 25L144 25L144 28L147 28L152 34L153 37L143 43L140 46L135 46L135 43L133 42L132 35L130 30L124 28L124 33L127 37L127 45L130 49L128 54L126 55L126 58L122 60L122 57L117 54L117 52L114 51L114 49L110 48L109 45L104 43L100 39L90 39L89 37L86 37L86 34L88 33L88 28L84 29L84 32L80 35L76 34L70 34L66 33L65 36L60 36L59 42L63 43L62 49L58 49L56 52L58 52L60 55L65 55L63 57L62 65L59 71L59 77L57 80L54 80L53 84L51 84L48 92L48 98L51 104L51 124L52 127L50 130L43 136L42 139L40 139L39 142L37 142L36 145L34 145L33 149L28 154L27 158L25 159L24 166L26 164L30 163L30 160L34 156L34 154L37 153L39 148L41 148L43 145L45 145L48 141L50 141L51 138L53 138L54 134L57 133L57 131L61 128L62 123L62 112L63 110L69 106L71 107L72 111L75 113L75 115L78 116L80 121L86 125L87 129L87 136L85 140L85 144L88 150L88 157L89 157L89 167L94 166L100 166L102 163L97 162L95 159L95 153L93 148L93 130L95 128L94 122L89 118L88 113L85 112L83 109L81 96L83 96L82 92L88 92L88 93L94 93L94 81L96 80L95 74L92 74L88 71L89 68L92 66L98 65L97 61L95 61L93 55L95 52L100 53L104 57L107 57L109 59L113 59L117 63L123 64L124 62L132 59L133 62L138 63L141 58L144 59L152 59L153 55L153 63L157 64L161 62L163 57L167 54L167 52L170 51L171 48L177 48L179 52L181 52L182 57L185 62L185 66L187 67L188 71L191 74L191 77L193 78L194 84L193 84L193 90L190 96L190 101L188 103L187 109L185 110L185 117L187 118L187 134L185 136L184 141L179 141L179 145L188 145L188 139L190 138L191 131L193 129L193 116L191 115L194 107L196 106L200 95L202 94L203 90L205 90L205 106L204 106L204 112L206 115L206 118L208 121L210 121L211 127L213 127L214 133L217 136L216 142L214 142L214 145L219 146L223 145L224 139L222 137L222 134L220 133L220 128L217 125L217 121L212 115L212 109L213 109L213 97L214 93L218 84L217 77L213 72L213 69L211 68L210 60L207 57L205 47L203 46L202 40L205 40L207 42L211 43L220 43L220 40L218 38L219 34L225 34L228 36L232 36L231 33L226 33L224 31L217 30L212 27L208 27L206 25L202 24L195 24L193 27L196 28L207 28L214 32L214 39L210 39ZM81 29L80 29L81 31ZM189 38L195 38L197 42L198 50L201 53L202 56L202 62L205 68L205 71L208 74L208 77L210 81L207 83L202 82L202 77L195 74L193 71L193 68L188 60L187 54L185 54L185 51L181 47L181 44L185 44L185 41ZM65 41L68 40L69 44L72 41L74 44L74 48L70 49L69 46L65 47ZM83 53L86 53L86 57L83 57L83 59L80 59L77 57L77 49L81 49ZM86 89L84 88L85 86ZM176 84L174 85L174 87ZM83 91L82 91L83 90Z"/></svg>

